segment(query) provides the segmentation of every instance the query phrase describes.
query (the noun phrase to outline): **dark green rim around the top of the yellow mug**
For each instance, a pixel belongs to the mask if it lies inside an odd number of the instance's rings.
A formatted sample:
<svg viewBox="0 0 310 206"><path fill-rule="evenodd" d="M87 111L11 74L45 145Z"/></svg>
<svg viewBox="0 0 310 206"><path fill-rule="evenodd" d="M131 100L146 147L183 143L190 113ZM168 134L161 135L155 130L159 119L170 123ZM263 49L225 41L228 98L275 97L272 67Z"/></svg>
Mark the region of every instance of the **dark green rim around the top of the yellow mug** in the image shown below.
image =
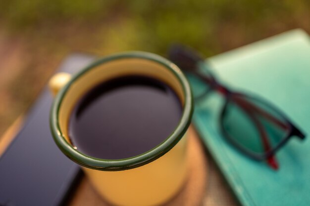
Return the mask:
<svg viewBox="0 0 310 206"><path fill-rule="evenodd" d="M65 140L63 132L61 131L58 122L59 109L62 100L66 92L72 85L72 83L75 82L77 79L81 78L83 74L103 63L123 58L141 58L151 60L161 64L166 69L170 70L177 77L178 81L182 85L182 91L185 97L182 117L175 130L172 131L172 133L163 142L161 142L159 145L155 146L154 148L145 153L142 153L134 157L118 160L94 158L74 149L73 146ZM159 157L163 156L165 153L167 153L179 142L179 140L187 131L189 125L191 124L192 115L193 115L193 97L191 87L189 82L181 72L181 70L175 64L159 55L143 51L131 51L131 52L118 53L98 59L94 63L82 69L80 72L72 75L70 81L66 83L58 91L58 93L54 98L50 114L50 127L56 145L72 161L76 162L79 165L92 169L103 171L119 171L146 165L158 159Z"/></svg>

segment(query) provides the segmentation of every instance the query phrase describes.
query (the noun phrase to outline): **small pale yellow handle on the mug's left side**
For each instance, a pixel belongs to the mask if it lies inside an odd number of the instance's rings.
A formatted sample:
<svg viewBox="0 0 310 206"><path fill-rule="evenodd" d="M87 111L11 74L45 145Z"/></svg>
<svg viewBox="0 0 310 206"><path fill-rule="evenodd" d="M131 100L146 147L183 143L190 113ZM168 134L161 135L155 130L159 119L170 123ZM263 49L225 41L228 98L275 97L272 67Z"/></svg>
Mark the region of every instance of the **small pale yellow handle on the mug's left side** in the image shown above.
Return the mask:
<svg viewBox="0 0 310 206"><path fill-rule="evenodd" d="M71 79L71 74L59 72L52 76L49 81L49 88L53 96L56 96L58 91Z"/></svg>

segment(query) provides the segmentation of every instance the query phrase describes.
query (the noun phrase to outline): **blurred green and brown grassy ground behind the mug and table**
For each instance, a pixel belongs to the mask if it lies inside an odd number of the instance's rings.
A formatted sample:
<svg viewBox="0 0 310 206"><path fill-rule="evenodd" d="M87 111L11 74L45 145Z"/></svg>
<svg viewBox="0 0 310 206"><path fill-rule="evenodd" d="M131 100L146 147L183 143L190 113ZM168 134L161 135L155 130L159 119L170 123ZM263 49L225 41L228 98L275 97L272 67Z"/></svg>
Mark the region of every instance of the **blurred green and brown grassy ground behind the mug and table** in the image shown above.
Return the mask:
<svg viewBox="0 0 310 206"><path fill-rule="evenodd" d="M1 0L0 134L70 52L182 42L208 57L294 28L310 33L309 0Z"/></svg>

